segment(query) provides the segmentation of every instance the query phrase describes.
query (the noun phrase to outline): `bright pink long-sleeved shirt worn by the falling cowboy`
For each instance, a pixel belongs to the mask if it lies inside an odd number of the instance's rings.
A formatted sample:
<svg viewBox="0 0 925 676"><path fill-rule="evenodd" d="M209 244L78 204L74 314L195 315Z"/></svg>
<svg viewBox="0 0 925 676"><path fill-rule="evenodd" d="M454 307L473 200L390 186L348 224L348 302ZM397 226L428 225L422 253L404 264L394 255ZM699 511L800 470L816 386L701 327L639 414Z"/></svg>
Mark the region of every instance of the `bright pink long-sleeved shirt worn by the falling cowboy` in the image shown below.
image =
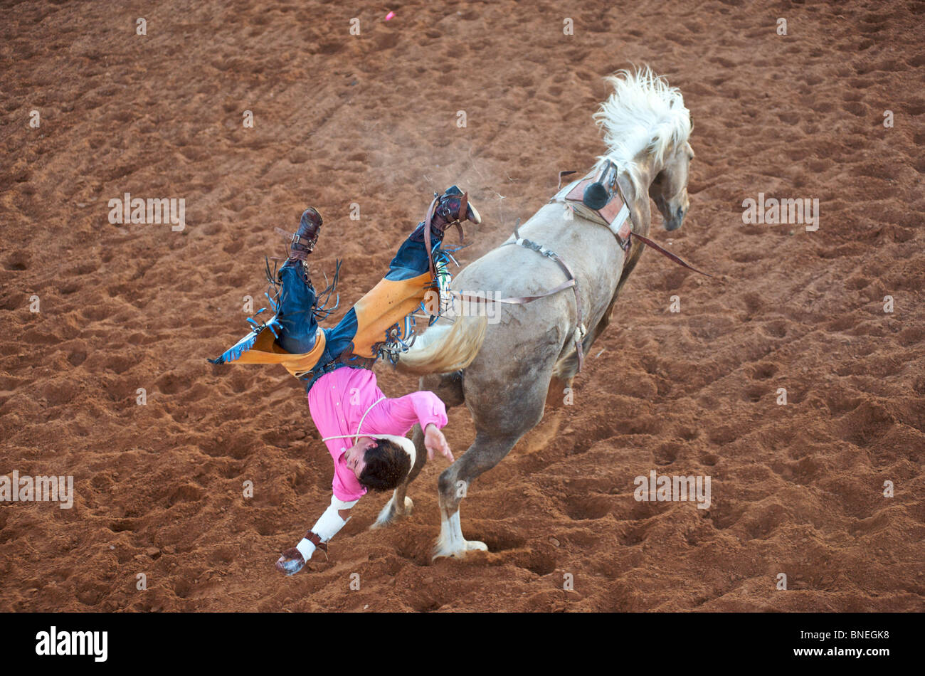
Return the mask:
<svg viewBox="0 0 925 676"><path fill-rule="evenodd" d="M376 374L369 369L350 366L341 366L322 375L308 390L308 409L321 437L351 435L351 438L325 442L334 459L334 496L344 502L359 499L366 493L347 467L344 452L353 446L352 435L356 434L363 414L383 396L376 386ZM360 436L405 436L415 423L420 423L421 429L429 423L438 427L447 424L446 406L433 392L412 392L398 399L383 399L366 413Z"/></svg>

